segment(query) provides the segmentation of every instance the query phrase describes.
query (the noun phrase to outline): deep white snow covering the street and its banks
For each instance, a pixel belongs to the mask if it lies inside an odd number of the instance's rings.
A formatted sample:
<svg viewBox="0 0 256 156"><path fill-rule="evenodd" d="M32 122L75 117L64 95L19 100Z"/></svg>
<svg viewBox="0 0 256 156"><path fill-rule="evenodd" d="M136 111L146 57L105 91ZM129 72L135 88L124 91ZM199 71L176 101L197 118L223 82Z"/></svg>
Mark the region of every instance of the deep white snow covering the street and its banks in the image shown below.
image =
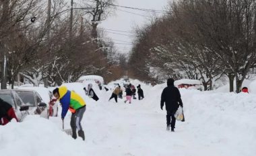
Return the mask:
<svg viewBox="0 0 256 156"><path fill-rule="evenodd" d="M137 86L139 82L135 81ZM72 84L67 84L71 87ZM256 96L182 89L185 123L177 121L174 133L166 131L166 111L160 94L166 84L141 84L145 99L125 104L98 90L100 100L85 96L79 84L72 90L84 96L82 121L86 141L73 140L62 129L60 117L50 120L28 116L24 123L0 127L1 155L191 155L227 156L256 153ZM81 86L82 87L82 86ZM61 109L60 109L61 110ZM60 113L61 111L59 111ZM70 115L65 118L69 129Z"/></svg>

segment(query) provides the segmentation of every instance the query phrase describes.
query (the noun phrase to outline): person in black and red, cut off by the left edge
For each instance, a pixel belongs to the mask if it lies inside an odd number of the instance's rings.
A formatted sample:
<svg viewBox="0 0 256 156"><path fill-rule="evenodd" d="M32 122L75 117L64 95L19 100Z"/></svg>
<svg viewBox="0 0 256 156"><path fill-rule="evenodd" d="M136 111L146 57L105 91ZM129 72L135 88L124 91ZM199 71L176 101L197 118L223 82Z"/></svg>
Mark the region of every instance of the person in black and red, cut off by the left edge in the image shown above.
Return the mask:
<svg viewBox="0 0 256 156"><path fill-rule="evenodd" d="M11 119L15 119L18 122L18 118L11 104L0 98L0 125L6 125Z"/></svg>

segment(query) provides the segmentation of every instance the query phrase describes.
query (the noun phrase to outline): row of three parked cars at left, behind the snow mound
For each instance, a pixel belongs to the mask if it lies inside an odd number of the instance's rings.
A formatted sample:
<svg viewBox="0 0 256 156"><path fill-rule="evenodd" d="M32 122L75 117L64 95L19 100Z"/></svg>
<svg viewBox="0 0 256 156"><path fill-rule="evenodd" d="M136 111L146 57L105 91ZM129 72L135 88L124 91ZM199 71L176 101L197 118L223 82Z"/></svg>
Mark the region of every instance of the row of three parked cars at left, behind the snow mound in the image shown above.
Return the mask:
<svg viewBox="0 0 256 156"><path fill-rule="evenodd" d="M37 90L36 87L0 90L0 98L13 106L19 122L28 114L39 114L46 119L57 116L58 107L51 92L47 88L40 88L40 93Z"/></svg>

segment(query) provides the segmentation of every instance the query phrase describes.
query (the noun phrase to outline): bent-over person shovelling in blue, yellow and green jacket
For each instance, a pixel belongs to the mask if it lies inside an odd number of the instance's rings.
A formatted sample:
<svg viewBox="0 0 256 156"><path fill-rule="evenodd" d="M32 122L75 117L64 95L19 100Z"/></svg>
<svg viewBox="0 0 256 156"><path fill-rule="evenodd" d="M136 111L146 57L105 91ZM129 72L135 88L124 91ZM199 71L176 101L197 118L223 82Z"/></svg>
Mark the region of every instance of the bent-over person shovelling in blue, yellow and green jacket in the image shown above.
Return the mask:
<svg viewBox="0 0 256 156"><path fill-rule="evenodd" d="M59 100L62 106L61 119L64 120L67 110L70 110L71 115L71 129L73 139L77 138L76 129L78 130L78 136L85 140L84 131L82 129L81 121L86 112L86 102L79 94L67 90L66 86L61 86L53 90L53 95Z"/></svg>

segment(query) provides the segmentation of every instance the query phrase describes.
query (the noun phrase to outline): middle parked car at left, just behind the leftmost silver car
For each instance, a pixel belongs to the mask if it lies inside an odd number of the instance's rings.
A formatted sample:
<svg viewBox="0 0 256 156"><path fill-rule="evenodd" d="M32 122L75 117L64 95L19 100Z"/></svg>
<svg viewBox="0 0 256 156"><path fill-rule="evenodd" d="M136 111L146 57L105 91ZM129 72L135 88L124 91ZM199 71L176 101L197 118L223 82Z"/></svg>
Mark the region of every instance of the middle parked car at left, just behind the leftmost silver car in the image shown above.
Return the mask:
<svg viewBox="0 0 256 156"><path fill-rule="evenodd" d="M18 90L15 92L20 96L25 105L29 106L30 114L40 114L40 116L48 119L49 110L47 104L42 100L41 96L35 90Z"/></svg>

